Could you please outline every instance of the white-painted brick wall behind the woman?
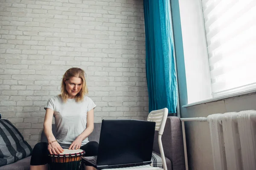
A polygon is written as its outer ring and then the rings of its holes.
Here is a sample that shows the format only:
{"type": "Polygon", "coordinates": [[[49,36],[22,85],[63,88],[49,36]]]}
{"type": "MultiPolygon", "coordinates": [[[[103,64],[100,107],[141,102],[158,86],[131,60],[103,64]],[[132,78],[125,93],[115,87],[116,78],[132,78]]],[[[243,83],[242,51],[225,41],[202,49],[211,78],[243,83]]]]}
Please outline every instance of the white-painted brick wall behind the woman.
{"type": "Polygon", "coordinates": [[[0,113],[34,146],[44,105],[71,67],[87,74],[95,122],[145,119],[143,0],[0,0],[0,113]]]}

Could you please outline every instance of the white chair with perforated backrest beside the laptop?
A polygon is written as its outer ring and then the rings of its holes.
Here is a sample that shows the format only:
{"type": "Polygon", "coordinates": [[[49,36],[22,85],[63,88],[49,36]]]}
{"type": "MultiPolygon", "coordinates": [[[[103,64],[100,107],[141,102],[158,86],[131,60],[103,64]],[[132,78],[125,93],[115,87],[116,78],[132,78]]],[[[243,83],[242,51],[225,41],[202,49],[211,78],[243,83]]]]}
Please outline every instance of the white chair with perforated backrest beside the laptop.
{"type": "Polygon", "coordinates": [[[166,119],[168,115],[168,109],[163,108],[156,111],[151,111],[148,115],[147,121],[156,122],[155,130],[158,131],[158,144],[160,149],[161,158],[163,161],[163,169],[167,170],[166,159],[163,152],[162,135],[166,125],[166,119]]]}

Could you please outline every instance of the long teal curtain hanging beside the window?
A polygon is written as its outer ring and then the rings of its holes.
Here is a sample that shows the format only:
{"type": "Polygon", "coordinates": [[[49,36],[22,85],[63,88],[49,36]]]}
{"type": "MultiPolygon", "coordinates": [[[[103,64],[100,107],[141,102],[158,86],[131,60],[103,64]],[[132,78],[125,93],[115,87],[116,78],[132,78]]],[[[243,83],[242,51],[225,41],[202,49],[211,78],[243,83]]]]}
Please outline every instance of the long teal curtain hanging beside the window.
{"type": "Polygon", "coordinates": [[[177,81],[169,0],[144,0],[149,111],[176,113],[177,81]]]}

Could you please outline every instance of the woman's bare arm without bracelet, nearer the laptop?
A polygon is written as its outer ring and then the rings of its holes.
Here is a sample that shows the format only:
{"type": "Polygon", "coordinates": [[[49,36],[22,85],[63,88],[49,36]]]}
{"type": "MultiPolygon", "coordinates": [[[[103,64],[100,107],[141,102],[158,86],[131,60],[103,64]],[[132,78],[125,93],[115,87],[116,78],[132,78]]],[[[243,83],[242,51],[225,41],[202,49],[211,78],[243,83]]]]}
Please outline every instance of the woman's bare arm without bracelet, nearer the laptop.
{"type": "Polygon", "coordinates": [[[87,124],[86,124],[86,129],[79,135],[77,136],[76,140],[72,142],[70,145],[69,149],[80,149],[82,141],[86,139],[92,132],[93,132],[93,125],[94,122],[94,109],[90,110],[87,112],[87,124]]]}

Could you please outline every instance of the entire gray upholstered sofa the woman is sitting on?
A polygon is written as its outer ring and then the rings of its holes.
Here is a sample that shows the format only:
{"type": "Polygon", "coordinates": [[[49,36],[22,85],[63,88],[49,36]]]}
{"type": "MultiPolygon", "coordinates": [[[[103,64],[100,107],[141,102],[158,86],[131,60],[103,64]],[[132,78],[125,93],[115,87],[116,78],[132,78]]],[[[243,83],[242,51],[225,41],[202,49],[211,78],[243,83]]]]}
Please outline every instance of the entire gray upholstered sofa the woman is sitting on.
{"type": "MultiPolygon", "coordinates": [[[[99,142],[101,123],[94,123],[93,133],[89,136],[89,141],[99,142]]],[[[55,134],[55,125],[52,125],[52,132],[55,134]]],[[[157,140],[158,133],[154,136],[153,151],[160,156],[157,140]]],[[[41,141],[47,142],[44,133],[41,134],[41,141]]],[[[176,116],[167,117],[166,126],[162,136],[163,150],[166,156],[168,170],[185,170],[185,159],[183,150],[183,137],[180,119],[176,116]]],[[[0,167],[0,170],[29,170],[30,158],[26,157],[15,163],[0,167]]]]}

